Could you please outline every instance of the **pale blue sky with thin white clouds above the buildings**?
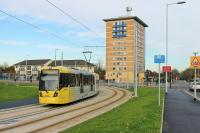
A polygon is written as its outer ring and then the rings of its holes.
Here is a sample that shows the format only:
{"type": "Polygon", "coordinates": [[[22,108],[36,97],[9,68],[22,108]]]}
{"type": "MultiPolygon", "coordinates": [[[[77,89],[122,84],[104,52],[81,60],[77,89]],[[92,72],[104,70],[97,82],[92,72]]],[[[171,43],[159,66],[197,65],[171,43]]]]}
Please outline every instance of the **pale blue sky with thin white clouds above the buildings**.
{"type": "MultiPolygon", "coordinates": [[[[92,51],[92,63],[102,60],[105,48],[105,23],[102,19],[125,16],[126,6],[133,8],[149,27],[146,28],[146,69],[157,70],[154,55],[165,54],[166,4],[176,0],[49,0],[78,21],[63,15],[46,0],[0,0],[0,10],[42,28],[38,30],[0,13],[0,64],[9,65],[27,59],[54,59],[56,48],[64,59],[84,59],[83,51],[92,51]],[[52,34],[59,36],[54,37],[52,34]]],[[[194,51],[200,52],[198,0],[169,7],[169,64],[180,71],[189,67],[194,51]]],[[[58,51],[57,57],[60,58],[58,51]]]]}

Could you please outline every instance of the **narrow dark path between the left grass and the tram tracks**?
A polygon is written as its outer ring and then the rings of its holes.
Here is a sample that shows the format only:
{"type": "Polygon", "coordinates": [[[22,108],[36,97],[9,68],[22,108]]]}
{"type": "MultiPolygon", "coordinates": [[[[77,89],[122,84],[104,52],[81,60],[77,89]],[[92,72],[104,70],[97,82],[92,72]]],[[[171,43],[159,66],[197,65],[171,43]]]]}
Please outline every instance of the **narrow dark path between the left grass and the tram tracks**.
{"type": "Polygon", "coordinates": [[[30,104],[38,104],[38,103],[39,103],[38,98],[18,100],[14,102],[4,102],[4,103],[0,103],[0,109],[13,108],[13,107],[19,107],[19,106],[30,105],[30,104]]]}

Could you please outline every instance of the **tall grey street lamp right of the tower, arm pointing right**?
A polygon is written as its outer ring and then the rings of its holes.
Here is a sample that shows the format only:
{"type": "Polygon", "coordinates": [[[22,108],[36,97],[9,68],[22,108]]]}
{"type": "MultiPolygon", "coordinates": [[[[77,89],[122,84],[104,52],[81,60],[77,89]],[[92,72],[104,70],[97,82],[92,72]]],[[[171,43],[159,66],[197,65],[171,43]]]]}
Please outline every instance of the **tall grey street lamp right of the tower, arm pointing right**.
{"type": "MultiPolygon", "coordinates": [[[[185,4],[185,1],[166,4],[166,66],[168,66],[168,8],[170,5],[185,4]]],[[[167,93],[167,72],[165,73],[165,93],[167,93]]]]}

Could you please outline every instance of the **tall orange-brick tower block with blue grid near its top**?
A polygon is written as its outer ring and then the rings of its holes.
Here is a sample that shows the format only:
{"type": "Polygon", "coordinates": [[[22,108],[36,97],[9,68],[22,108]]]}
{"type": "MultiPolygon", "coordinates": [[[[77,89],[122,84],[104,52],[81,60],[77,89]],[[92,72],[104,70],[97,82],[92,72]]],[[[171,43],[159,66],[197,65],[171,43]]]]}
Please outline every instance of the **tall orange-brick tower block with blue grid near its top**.
{"type": "Polygon", "coordinates": [[[137,53],[138,77],[139,82],[142,82],[145,71],[145,27],[148,25],[136,16],[110,18],[104,21],[106,79],[133,83],[137,53]]]}

